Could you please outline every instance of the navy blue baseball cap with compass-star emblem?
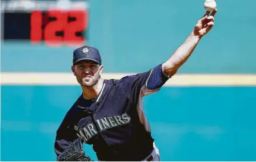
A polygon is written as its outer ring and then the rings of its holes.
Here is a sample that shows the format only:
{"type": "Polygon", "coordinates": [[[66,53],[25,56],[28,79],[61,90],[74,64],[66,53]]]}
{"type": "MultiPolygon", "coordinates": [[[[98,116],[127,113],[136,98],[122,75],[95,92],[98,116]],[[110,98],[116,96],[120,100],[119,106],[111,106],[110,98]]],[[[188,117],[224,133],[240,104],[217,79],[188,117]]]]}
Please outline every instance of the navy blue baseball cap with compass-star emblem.
{"type": "Polygon", "coordinates": [[[99,55],[99,50],[95,47],[90,47],[88,45],[83,45],[73,51],[73,64],[82,60],[90,60],[101,65],[101,55],[99,55]]]}

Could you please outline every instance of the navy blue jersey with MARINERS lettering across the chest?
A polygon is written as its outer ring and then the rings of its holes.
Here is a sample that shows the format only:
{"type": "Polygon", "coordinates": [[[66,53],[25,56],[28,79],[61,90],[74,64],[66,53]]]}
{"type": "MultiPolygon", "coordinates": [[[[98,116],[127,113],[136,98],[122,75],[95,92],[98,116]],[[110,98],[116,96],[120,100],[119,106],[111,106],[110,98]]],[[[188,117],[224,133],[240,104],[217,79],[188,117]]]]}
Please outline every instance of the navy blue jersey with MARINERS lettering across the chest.
{"type": "Polygon", "coordinates": [[[153,150],[143,97],[158,92],[169,78],[162,64],[121,80],[104,80],[95,100],[81,95],[65,115],[55,141],[57,156],[81,137],[93,144],[98,160],[140,161],[153,150]]]}

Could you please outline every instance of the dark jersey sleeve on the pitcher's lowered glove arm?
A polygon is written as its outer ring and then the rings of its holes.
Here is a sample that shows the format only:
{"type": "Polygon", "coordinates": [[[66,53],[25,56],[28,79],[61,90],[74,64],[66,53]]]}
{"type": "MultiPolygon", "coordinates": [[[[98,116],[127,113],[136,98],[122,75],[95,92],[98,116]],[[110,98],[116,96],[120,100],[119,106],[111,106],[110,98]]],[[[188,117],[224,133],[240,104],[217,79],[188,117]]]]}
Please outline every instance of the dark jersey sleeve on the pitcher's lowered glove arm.
{"type": "Polygon", "coordinates": [[[54,151],[57,157],[70,146],[74,140],[78,139],[78,136],[74,130],[74,118],[72,117],[71,110],[67,112],[61,125],[56,132],[56,138],[54,143],[54,151]]]}

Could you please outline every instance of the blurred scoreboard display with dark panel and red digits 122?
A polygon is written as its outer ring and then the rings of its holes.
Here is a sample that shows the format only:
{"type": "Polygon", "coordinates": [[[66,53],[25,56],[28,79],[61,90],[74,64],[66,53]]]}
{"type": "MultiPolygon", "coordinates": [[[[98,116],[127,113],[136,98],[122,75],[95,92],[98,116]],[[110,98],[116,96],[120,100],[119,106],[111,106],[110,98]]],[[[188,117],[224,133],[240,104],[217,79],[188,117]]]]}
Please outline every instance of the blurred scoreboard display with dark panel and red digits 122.
{"type": "Polygon", "coordinates": [[[3,41],[44,41],[50,46],[84,44],[87,40],[87,10],[15,10],[2,11],[3,41]]]}

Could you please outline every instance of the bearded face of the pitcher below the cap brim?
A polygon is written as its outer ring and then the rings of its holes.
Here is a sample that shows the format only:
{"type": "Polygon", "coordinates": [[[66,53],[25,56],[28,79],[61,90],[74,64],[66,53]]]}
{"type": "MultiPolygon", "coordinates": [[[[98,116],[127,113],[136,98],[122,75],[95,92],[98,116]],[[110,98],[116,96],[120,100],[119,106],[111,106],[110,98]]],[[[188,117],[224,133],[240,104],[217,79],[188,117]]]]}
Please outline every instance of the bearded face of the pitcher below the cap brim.
{"type": "Polygon", "coordinates": [[[103,65],[99,65],[94,61],[79,61],[72,66],[74,76],[77,81],[84,87],[91,87],[97,84],[103,70],[103,65]]]}

